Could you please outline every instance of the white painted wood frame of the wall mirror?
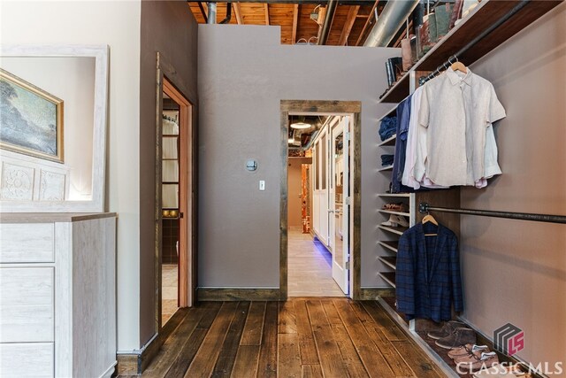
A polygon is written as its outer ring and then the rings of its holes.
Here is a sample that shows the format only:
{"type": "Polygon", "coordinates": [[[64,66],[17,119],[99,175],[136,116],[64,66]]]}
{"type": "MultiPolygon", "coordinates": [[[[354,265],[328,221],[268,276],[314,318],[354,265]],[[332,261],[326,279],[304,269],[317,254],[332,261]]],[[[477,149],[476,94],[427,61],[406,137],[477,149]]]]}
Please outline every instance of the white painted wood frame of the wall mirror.
{"type": "Polygon", "coordinates": [[[95,65],[92,199],[89,201],[0,201],[2,212],[103,212],[106,167],[109,55],[107,45],[2,45],[2,57],[91,57],[95,65]]]}

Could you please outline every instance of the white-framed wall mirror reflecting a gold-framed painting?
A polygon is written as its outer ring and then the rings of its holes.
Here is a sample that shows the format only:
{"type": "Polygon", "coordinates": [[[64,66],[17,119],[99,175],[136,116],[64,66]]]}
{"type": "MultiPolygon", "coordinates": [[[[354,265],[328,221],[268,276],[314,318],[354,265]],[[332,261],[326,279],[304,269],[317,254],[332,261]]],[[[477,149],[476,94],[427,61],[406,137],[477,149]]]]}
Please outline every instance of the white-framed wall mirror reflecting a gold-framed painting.
{"type": "Polygon", "coordinates": [[[108,46],[0,50],[0,211],[103,212],[108,46]]]}

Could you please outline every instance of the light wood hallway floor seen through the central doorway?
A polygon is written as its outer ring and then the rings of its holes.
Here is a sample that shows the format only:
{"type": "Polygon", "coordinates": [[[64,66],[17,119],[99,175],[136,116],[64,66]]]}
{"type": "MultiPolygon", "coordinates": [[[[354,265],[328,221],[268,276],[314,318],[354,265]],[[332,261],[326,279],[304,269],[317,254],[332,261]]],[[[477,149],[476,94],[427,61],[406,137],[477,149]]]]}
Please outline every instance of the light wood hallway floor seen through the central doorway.
{"type": "Polygon", "coordinates": [[[300,228],[288,230],[287,290],[289,297],[344,297],[333,280],[332,255],[300,228]]]}

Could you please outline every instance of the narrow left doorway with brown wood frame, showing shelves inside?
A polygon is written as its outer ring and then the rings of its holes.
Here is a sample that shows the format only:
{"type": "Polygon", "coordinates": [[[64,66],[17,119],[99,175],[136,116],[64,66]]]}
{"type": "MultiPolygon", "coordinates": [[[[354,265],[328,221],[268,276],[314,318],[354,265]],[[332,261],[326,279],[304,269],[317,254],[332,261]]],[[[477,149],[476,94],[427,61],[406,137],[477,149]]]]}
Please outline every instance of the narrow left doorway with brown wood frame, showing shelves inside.
{"type": "Polygon", "coordinates": [[[167,77],[158,86],[157,327],[192,305],[192,105],[167,77]]]}

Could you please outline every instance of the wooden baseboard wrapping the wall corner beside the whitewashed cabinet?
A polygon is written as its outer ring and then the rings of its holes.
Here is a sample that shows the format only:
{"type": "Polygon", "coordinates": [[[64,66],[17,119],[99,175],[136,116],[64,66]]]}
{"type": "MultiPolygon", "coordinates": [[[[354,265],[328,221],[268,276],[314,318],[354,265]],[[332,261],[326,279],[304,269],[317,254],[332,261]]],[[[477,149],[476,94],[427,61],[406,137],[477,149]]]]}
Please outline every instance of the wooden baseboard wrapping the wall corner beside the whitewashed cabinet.
{"type": "Polygon", "coordinates": [[[159,334],[154,335],[148,343],[143,345],[139,351],[132,353],[117,354],[118,365],[116,367],[117,375],[142,375],[142,372],[149,366],[151,361],[157,356],[164,341],[172,332],[179,327],[180,321],[187,314],[187,308],[180,308],[168,320],[159,334]]]}

